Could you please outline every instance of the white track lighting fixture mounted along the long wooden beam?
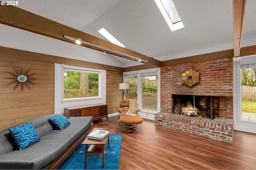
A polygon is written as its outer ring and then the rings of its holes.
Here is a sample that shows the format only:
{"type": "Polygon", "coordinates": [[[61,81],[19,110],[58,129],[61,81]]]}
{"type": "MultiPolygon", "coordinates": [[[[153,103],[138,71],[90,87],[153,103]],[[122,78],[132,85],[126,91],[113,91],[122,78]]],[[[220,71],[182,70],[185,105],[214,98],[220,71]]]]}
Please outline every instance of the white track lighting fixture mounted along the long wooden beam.
{"type": "MultiPolygon", "coordinates": [[[[77,44],[79,44],[79,42],[80,42],[80,44],[83,43],[83,44],[86,44],[86,45],[90,45],[90,46],[93,46],[93,47],[97,47],[97,48],[99,48],[99,49],[103,49],[103,50],[108,51],[108,52],[111,52],[111,53],[120,54],[120,55],[129,57],[129,58],[138,60],[138,62],[141,62],[141,61],[143,61],[143,62],[145,62],[145,63],[148,62],[148,61],[143,60],[143,59],[140,59],[140,58],[138,58],[138,57],[133,57],[133,56],[131,56],[131,55],[127,55],[127,54],[124,54],[124,53],[120,53],[120,52],[118,52],[118,51],[114,51],[114,50],[112,50],[112,49],[108,49],[108,48],[105,48],[105,47],[101,47],[101,46],[99,46],[99,45],[95,45],[95,44],[92,44],[92,43],[88,43],[88,42],[86,42],[86,41],[82,41],[80,38],[76,39],[76,38],[73,38],[73,37],[69,37],[69,36],[67,36],[67,35],[64,35],[64,38],[67,38],[67,39],[71,39],[71,40],[73,40],[73,41],[76,41],[77,44]]],[[[80,45],[80,44],[79,44],[79,45],[80,45]]],[[[148,57],[147,57],[147,58],[148,58],[148,57]]]]}

